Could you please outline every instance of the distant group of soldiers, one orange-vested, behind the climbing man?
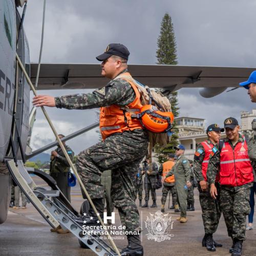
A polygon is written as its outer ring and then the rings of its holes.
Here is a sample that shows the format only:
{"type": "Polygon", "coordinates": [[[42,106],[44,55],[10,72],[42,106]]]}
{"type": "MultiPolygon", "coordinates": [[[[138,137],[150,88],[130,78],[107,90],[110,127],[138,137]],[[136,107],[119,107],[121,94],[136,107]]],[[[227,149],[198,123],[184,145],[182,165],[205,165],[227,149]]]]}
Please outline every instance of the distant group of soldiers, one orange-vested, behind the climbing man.
{"type": "MultiPolygon", "coordinates": [[[[150,198],[150,191],[153,200],[151,207],[157,207],[156,204],[156,189],[163,187],[161,198],[161,211],[164,212],[164,206],[168,193],[172,194],[172,206],[170,209],[175,209],[175,212],[181,212],[181,222],[185,223],[186,211],[195,210],[194,187],[197,186],[193,172],[193,161],[188,160],[184,156],[185,147],[178,145],[175,147],[176,154],[169,153],[168,160],[160,165],[159,169],[155,162],[151,159],[146,159],[138,170],[136,178],[136,197],[138,193],[139,206],[148,207],[148,200],[150,198]],[[176,175],[170,174],[170,170],[176,175]],[[180,177],[178,177],[180,173],[180,177]],[[144,175],[144,183],[143,176],[144,175]],[[159,175],[162,176],[159,185],[159,175]],[[184,180],[189,181],[188,184],[184,180]],[[183,184],[184,183],[184,184],[183,184]],[[145,191],[145,204],[142,205],[143,185],[145,191]]],[[[169,205],[168,205],[169,207],[169,205]]]]}

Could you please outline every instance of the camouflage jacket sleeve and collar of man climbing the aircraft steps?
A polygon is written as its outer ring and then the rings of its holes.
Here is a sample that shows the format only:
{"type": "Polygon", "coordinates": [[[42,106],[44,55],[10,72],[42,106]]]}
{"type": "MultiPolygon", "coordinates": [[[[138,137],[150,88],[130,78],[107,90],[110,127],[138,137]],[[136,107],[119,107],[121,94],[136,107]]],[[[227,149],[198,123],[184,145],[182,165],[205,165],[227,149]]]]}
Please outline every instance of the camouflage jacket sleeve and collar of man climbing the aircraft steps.
{"type": "MultiPolygon", "coordinates": [[[[127,72],[123,70],[121,73],[127,72]]],[[[118,74],[119,75],[119,74],[118,74]]],[[[105,87],[87,94],[74,94],[55,98],[56,108],[94,109],[117,104],[125,106],[134,101],[136,95],[129,82],[124,79],[111,80],[105,87]]]]}

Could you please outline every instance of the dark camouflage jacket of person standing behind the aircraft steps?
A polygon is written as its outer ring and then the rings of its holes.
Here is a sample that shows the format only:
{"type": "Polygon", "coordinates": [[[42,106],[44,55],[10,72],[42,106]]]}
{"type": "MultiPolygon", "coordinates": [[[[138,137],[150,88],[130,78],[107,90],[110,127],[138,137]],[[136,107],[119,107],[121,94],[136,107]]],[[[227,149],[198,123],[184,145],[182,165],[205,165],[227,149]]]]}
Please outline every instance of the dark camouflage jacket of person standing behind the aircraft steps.
{"type": "MultiPolygon", "coordinates": [[[[69,154],[69,157],[71,158],[71,161],[73,161],[74,152],[71,150],[71,148],[67,145],[65,145],[66,151],[69,154]]],[[[66,159],[64,153],[61,150],[61,147],[57,147],[55,150],[58,155],[51,159],[50,162],[50,174],[52,173],[67,173],[69,172],[69,162],[66,159]]],[[[51,157],[52,158],[52,157],[51,157]]]]}

